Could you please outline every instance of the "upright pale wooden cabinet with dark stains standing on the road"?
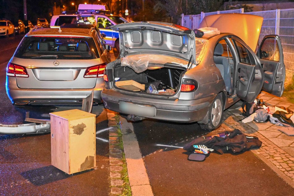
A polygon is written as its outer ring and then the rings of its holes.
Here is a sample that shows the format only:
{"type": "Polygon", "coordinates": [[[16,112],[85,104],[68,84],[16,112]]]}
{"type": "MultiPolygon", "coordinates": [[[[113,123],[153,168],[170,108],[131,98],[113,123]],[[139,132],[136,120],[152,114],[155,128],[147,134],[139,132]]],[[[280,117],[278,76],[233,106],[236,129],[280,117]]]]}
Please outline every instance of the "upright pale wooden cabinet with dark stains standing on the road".
{"type": "Polygon", "coordinates": [[[79,109],[50,113],[51,164],[72,174],[96,167],[96,115],[79,109]]]}

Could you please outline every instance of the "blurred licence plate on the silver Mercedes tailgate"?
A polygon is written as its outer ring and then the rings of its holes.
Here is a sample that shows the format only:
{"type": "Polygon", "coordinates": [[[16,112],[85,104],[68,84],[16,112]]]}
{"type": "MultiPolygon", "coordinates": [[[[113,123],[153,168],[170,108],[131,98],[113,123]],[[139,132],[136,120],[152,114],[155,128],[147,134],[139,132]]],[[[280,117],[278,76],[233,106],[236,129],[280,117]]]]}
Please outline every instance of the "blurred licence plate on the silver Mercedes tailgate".
{"type": "Polygon", "coordinates": [[[40,80],[47,81],[73,81],[73,71],[53,71],[53,70],[41,70],[40,80]]]}

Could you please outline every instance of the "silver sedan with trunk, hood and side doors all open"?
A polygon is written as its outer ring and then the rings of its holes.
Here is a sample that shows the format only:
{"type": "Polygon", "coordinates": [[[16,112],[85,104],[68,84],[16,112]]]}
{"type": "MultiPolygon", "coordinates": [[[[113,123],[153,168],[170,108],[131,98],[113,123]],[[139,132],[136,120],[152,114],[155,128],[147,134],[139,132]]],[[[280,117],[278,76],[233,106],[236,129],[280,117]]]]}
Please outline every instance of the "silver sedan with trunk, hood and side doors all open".
{"type": "Polygon", "coordinates": [[[238,100],[253,102],[261,89],[283,93],[285,66],[277,35],[266,36],[256,55],[238,36],[215,28],[214,35],[204,32],[203,37],[198,30],[161,22],[111,28],[120,33],[122,51],[106,66],[101,97],[105,108],[127,114],[128,120],[197,121],[212,130],[238,100]]]}

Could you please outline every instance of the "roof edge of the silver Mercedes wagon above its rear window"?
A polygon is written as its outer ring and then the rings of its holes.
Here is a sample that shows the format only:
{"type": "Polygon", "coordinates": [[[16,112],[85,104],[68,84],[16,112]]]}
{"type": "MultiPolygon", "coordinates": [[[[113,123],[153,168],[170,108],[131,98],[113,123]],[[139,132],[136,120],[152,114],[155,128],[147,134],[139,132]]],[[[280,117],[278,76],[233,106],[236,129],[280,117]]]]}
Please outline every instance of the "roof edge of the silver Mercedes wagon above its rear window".
{"type": "Polygon", "coordinates": [[[87,28],[35,28],[27,36],[90,36],[92,29],[87,28]]]}

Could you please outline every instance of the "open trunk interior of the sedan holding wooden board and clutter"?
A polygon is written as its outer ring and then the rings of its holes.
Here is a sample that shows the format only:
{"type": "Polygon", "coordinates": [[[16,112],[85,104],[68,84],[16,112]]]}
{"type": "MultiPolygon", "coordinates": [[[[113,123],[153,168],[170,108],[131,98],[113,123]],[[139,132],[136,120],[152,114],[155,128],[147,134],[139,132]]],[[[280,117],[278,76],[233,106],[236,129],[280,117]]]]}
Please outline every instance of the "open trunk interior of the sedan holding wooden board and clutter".
{"type": "Polygon", "coordinates": [[[114,84],[125,91],[173,96],[181,87],[185,71],[185,67],[175,64],[153,64],[147,70],[136,73],[132,68],[118,64],[114,68],[114,84]]]}

